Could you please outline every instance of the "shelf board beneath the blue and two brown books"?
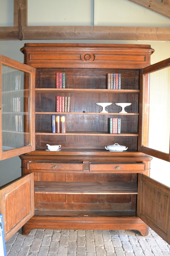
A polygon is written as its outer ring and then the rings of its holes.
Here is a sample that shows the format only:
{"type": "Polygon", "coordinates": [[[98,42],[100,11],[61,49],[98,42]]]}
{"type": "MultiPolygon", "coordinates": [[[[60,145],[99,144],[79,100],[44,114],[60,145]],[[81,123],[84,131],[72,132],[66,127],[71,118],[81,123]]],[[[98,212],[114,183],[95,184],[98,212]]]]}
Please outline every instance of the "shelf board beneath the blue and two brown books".
{"type": "Polygon", "coordinates": [[[114,133],[110,134],[107,132],[66,132],[66,133],[52,133],[52,132],[41,132],[36,131],[36,135],[83,135],[83,136],[138,136],[138,133],[114,133]]]}

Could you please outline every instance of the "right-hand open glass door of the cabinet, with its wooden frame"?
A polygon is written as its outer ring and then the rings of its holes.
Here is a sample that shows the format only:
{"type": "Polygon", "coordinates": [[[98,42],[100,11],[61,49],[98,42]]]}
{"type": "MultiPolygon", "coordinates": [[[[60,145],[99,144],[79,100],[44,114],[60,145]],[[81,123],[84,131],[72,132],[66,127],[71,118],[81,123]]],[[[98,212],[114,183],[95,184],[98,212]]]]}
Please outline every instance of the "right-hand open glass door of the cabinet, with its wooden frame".
{"type": "Polygon", "coordinates": [[[170,58],[140,72],[138,151],[170,162],[170,58]]]}

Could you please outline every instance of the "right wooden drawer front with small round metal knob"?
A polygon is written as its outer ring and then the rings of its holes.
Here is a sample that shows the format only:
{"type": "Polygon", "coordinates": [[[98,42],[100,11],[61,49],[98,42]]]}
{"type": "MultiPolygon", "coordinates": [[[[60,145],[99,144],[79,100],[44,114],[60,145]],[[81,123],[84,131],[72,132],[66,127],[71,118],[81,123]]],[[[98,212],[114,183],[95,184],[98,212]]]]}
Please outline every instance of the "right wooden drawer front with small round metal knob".
{"type": "Polygon", "coordinates": [[[135,164],[90,164],[90,172],[144,172],[144,163],[135,164]]]}

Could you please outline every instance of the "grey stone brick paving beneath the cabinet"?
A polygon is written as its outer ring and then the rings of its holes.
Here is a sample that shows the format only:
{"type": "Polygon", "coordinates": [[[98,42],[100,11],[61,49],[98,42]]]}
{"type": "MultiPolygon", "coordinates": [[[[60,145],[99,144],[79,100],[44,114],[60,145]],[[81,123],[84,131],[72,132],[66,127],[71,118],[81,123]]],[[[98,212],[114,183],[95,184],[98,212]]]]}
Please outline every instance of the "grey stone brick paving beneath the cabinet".
{"type": "Polygon", "coordinates": [[[33,229],[6,242],[8,256],[168,256],[170,245],[153,230],[33,229]]]}

